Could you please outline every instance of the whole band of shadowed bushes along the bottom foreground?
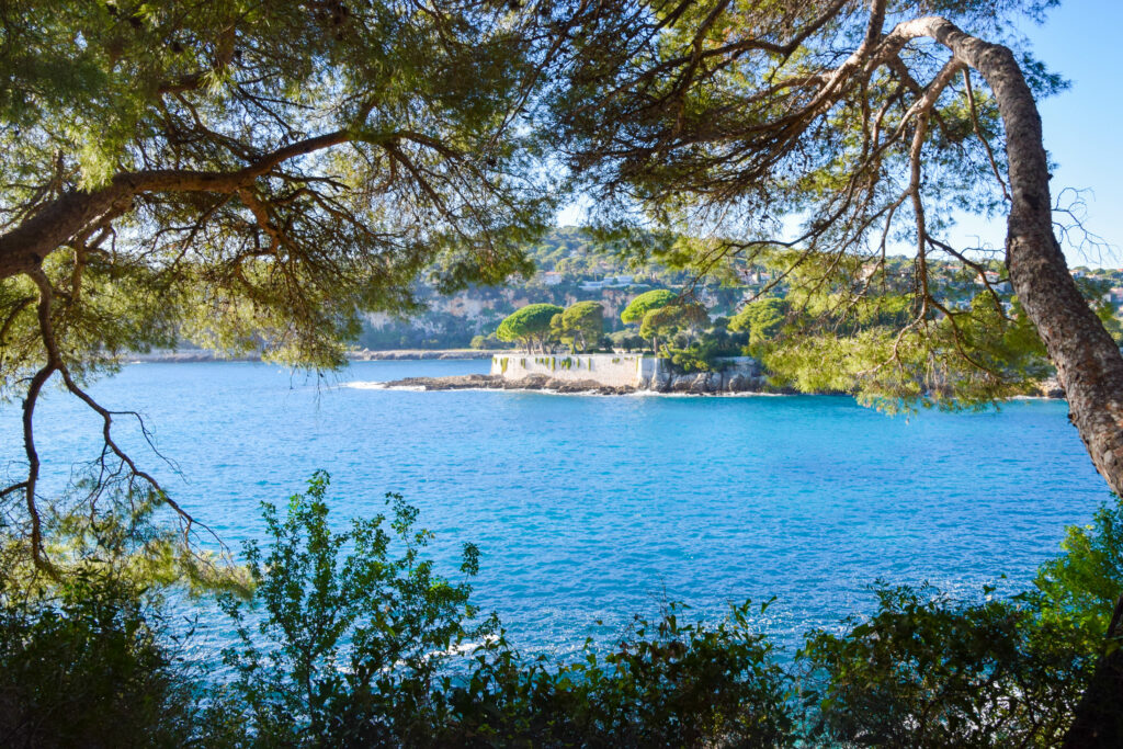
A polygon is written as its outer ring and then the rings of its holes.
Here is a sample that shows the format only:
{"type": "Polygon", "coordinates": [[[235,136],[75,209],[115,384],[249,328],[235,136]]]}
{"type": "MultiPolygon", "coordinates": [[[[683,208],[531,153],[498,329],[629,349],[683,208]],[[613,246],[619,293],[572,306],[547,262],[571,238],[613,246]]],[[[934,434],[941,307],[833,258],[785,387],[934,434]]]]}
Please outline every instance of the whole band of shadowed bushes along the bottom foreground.
{"type": "Polygon", "coordinates": [[[447,579],[400,496],[335,532],[327,488],[317,474],[284,513],[265,506],[268,542],[246,548],[254,594],[219,595],[237,641],[209,676],[176,658],[143,586],[89,570],[35,594],[4,583],[0,745],[1049,747],[1123,570],[1123,512],[1104,509],[1017,596],[878,584],[873,616],[786,658],[754,631],[763,609],[699,624],[668,604],[556,663],[520,655],[471,605],[475,547],[447,579]]]}

